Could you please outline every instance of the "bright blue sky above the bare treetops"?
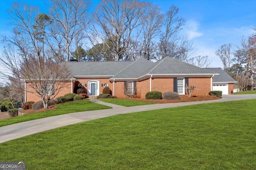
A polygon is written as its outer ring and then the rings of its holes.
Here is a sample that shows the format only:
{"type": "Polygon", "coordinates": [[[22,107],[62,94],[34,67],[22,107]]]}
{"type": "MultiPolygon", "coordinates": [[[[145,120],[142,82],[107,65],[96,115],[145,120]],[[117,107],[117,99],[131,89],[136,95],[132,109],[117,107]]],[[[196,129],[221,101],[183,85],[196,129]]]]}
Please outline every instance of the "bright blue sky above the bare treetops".
{"type": "MultiPolygon", "coordinates": [[[[224,43],[232,43],[233,48],[239,45],[242,36],[248,37],[256,27],[256,0],[148,0],[157,4],[162,12],[174,4],[180,8],[179,15],[186,19],[181,36],[188,36],[194,42],[196,55],[208,55],[212,67],[222,67],[215,51],[224,43]]],[[[0,0],[0,35],[10,32],[10,17],[6,10],[17,0],[0,0]]],[[[44,0],[18,0],[28,5],[38,6],[47,13],[44,0]]],[[[91,0],[93,10],[100,2],[91,0]]],[[[0,48],[3,44],[1,43],[0,48]]],[[[1,54],[0,54],[1,55],[1,54]]]]}

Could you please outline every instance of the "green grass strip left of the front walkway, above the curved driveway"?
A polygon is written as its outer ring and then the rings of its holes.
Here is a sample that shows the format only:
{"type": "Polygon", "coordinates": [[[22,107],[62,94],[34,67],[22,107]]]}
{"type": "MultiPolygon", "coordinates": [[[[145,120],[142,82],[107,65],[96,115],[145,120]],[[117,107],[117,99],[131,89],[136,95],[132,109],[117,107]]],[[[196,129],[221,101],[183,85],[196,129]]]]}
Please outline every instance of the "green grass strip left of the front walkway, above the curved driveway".
{"type": "Polygon", "coordinates": [[[42,111],[38,113],[28,114],[28,115],[21,115],[18,117],[12,117],[9,119],[0,120],[0,127],[11,125],[14,123],[20,123],[24,121],[30,121],[34,119],[40,119],[43,117],[50,117],[56,115],[63,115],[66,113],[74,113],[79,111],[90,111],[90,110],[101,110],[101,109],[109,109],[112,107],[103,106],[100,104],[96,104],[91,102],[90,100],[79,100],[76,102],[68,102],[65,104],[57,105],[57,109],[49,110],[49,111],[42,111]]]}

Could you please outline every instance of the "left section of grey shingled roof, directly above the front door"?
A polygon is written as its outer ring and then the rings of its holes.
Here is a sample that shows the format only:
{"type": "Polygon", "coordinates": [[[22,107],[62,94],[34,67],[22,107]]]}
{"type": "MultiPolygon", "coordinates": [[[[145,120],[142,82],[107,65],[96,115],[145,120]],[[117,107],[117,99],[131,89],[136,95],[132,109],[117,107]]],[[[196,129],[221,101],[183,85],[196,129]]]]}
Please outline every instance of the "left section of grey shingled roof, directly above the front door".
{"type": "Polygon", "coordinates": [[[65,62],[73,77],[114,76],[134,61],[65,62]]]}

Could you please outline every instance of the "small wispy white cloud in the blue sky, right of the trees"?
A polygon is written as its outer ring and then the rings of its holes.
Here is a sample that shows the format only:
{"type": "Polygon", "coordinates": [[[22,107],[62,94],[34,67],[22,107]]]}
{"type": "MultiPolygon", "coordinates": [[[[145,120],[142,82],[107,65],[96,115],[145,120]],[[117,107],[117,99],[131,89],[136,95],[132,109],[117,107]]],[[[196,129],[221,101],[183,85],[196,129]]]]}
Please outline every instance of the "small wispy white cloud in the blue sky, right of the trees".
{"type": "Polygon", "coordinates": [[[198,31],[198,27],[199,27],[199,24],[194,20],[190,20],[186,22],[184,31],[188,35],[188,39],[194,39],[196,37],[201,37],[203,35],[203,33],[198,31]]]}

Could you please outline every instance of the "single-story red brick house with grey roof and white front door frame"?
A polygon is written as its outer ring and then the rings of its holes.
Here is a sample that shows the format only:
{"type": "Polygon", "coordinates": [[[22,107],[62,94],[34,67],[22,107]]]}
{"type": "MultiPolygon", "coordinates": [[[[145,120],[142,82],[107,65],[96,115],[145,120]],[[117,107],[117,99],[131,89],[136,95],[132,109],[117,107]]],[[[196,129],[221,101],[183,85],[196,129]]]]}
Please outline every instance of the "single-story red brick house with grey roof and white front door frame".
{"type": "MultiPolygon", "coordinates": [[[[92,62],[66,62],[72,72],[68,87],[63,88],[56,96],[66,93],[76,93],[80,87],[88,96],[98,96],[105,86],[112,90],[112,96],[124,98],[126,91],[134,92],[137,98],[145,98],[147,92],[167,91],[185,94],[185,84],[193,85],[195,96],[207,95],[215,89],[225,72],[221,68],[200,68],[171,57],[165,57],[156,63],[146,59],[136,61],[92,61],[92,62]],[[215,79],[216,76],[216,79],[215,79]],[[215,82],[216,80],[216,82],[215,82]]],[[[225,74],[228,77],[228,74],[225,74]]],[[[225,81],[231,94],[234,79],[225,81]]],[[[220,86],[219,86],[220,87],[220,86]]],[[[26,101],[39,101],[40,98],[32,93],[26,93],[26,101]]]]}

